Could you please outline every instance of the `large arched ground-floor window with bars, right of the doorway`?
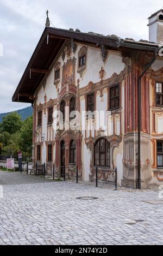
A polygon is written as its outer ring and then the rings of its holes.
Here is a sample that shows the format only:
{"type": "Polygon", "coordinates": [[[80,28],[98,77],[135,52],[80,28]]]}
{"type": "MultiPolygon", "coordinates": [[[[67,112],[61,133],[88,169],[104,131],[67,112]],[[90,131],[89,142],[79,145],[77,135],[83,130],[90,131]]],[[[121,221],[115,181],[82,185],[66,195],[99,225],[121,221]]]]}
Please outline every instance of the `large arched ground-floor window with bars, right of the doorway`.
{"type": "Polygon", "coordinates": [[[95,166],[110,167],[110,144],[108,140],[102,138],[95,144],[95,166]]]}

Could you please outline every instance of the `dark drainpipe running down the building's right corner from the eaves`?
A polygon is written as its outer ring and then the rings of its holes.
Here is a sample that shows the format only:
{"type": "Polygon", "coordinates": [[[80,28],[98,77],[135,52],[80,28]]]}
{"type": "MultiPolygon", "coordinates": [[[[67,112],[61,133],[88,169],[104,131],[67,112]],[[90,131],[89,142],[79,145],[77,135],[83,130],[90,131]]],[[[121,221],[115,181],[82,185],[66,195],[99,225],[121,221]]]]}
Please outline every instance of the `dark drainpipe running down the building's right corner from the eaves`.
{"type": "Polygon", "coordinates": [[[147,64],[138,79],[138,159],[137,159],[137,188],[141,189],[141,124],[142,124],[142,111],[141,111],[141,79],[147,70],[154,63],[158,50],[154,51],[153,59],[147,64]]]}

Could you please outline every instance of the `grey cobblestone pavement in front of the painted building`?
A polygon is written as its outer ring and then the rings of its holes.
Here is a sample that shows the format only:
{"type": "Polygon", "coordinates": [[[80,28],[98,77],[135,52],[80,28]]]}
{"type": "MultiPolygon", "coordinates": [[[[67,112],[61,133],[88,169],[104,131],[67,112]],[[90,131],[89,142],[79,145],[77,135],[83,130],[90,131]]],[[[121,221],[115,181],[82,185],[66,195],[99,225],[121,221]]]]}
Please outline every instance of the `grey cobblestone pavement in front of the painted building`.
{"type": "Polygon", "coordinates": [[[158,192],[20,176],[0,171],[0,245],[163,245],[158,192]]]}

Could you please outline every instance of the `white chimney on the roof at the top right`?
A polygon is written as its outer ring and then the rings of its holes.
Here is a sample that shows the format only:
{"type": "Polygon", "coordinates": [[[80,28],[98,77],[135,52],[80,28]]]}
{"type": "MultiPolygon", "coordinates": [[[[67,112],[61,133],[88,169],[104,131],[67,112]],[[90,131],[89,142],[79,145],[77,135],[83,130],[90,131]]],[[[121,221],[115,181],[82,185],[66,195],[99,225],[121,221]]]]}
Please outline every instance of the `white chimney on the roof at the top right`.
{"type": "Polygon", "coordinates": [[[156,11],[148,19],[149,41],[156,44],[163,44],[163,9],[156,11]]]}

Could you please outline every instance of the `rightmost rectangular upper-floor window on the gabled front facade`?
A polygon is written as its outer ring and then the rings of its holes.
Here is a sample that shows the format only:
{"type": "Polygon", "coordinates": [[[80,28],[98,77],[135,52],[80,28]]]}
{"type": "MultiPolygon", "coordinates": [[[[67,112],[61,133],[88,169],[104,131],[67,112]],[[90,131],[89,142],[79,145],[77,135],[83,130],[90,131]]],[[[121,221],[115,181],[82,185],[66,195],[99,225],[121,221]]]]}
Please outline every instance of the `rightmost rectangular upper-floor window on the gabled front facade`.
{"type": "Polygon", "coordinates": [[[110,110],[120,108],[120,86],[110,88],[110,110]]]}

